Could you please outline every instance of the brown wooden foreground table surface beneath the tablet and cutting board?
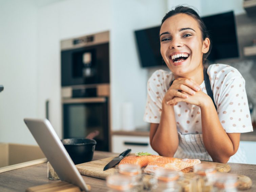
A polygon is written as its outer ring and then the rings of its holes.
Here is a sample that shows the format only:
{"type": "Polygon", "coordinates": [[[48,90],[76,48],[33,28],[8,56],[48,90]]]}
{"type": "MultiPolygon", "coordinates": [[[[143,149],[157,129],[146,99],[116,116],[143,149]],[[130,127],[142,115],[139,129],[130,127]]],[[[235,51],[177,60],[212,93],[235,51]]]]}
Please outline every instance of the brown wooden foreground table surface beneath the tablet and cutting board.
{"type": "MultiPolygon", "coordinates": [[[[117,156],[117,153],[95,151],[93,160],[117,156]]],[[[246,191],[256,191],[256,165],[229,163],[230,173],[242,174],[252,179],[252,188],[246,191]]],[[[91,192],[106,192],[106,181],[82,175],[86,184],[91,185],[91,192]]],[[[0,173],[0,191],[25,191],[29,187],[58,182],[47,178],[47,163],[24,167],[0,173]]]]}

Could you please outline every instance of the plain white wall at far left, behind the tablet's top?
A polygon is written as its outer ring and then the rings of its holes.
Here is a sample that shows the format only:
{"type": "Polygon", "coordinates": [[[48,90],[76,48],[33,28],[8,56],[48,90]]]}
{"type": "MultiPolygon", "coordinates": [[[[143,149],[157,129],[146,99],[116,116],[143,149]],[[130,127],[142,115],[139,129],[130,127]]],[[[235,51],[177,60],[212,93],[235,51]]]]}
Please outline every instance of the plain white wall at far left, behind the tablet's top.
{"type": "Polygon", "coordinates": [[[37,117],[37,8],[0,1],[0,142],[34,143],[23,122],[37,117]]]}

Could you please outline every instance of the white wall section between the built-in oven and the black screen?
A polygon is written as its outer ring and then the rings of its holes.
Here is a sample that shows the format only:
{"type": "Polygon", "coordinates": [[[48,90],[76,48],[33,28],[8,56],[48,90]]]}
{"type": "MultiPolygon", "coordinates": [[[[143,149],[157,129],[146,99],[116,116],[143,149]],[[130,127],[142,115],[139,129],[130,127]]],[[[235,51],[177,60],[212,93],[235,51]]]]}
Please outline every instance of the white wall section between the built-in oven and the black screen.
{"type": "Polygon", "coordinates": [[[147,69],[140,67],[134,30],[159,25],[166,2],[157,0],[112,1],[111,28],[111,115],[112,129],[122,128],[122,104],[134,105],[135,126],[146,125],[147,69]]]}

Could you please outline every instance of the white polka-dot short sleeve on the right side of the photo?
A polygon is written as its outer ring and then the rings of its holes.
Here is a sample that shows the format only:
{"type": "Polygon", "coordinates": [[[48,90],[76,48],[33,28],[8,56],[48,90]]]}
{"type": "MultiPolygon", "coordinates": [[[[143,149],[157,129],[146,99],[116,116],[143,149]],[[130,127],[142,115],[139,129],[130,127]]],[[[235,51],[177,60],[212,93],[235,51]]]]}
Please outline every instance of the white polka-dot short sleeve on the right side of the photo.
{"type": "Polygon", "coordinates": [[[253,131],[253,127],[245,81],[237,70],[233,73],[235,73],[233,76],[226,78],[217,87],[219,89],[217,102],[219,120],[227,133],[250,132],[253,131]]]}

